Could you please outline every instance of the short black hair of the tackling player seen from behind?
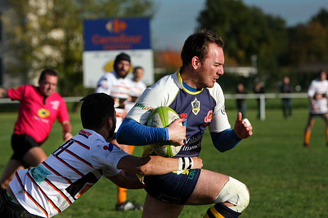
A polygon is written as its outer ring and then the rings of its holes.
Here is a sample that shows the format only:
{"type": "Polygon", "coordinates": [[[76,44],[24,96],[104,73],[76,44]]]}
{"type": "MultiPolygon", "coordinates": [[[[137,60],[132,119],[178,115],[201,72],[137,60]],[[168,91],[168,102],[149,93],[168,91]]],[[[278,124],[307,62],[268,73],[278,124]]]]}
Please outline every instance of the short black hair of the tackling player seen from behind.
{"type": "Polygon", "coordinates": [[[109,117],[114,117],[114,99],[105,93],[92,93],[80,101],[81,121],[83,128],[99,130],[105,125],[109,117]]]}

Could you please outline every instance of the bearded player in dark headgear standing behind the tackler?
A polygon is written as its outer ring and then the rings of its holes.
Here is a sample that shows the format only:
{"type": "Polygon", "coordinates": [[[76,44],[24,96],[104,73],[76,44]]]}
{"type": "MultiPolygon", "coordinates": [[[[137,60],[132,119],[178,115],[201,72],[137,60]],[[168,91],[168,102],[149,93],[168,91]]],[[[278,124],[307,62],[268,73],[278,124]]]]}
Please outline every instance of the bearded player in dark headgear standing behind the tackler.
{"type": "MultiPolygon", "coordinates": [[[[117,146],[123,151],[132,154],[133,147],[125,144],[119,144],[116,141],[116,132],[121,125],[122,120],[127,114],[125,104],[129,98],[131,79],[127,78],[127,75],[131,68],[130,56],[125,53],[120,53],[116,56],[114,61],[114,70],[104,74],[97,83],[95,92],[103,92],[111,95],[115,100],[116,111],[116,129],[109,139],[109,142],[117,144],[117,146]]],[[[135,204],[127,201],[127,189],[117,186],[117,204],[116,210],[136,210],[142,209],[142,205],[135,204]]]]}

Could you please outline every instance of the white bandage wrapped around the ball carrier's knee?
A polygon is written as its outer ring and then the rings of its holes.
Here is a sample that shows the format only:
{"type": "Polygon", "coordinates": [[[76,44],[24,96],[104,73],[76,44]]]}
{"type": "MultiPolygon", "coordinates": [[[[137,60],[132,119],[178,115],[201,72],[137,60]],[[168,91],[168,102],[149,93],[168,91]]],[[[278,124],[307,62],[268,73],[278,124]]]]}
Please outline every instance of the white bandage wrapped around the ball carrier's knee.
{"type": "Polygon", "coordinates": [[[250,193],[246,185],[229,177],[229,181],[223,186],[213,203],[223,202],[236,205],[229,208],[237,212],[242,212],[250,203],[250,193]]]}

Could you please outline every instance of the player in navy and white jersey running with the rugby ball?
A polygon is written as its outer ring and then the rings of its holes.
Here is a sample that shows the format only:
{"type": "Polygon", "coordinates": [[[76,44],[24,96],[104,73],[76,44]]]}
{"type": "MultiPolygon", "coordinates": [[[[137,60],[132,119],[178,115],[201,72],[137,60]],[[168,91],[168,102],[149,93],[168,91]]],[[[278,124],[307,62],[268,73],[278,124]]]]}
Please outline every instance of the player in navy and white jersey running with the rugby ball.
{"type": "MultiPolygon", "coordinates": [[[[223,75],[223,40],[212,31],[189,36],[181,52],[182,67],[147,88],[123,120],[117,141],[144,146],[159,141],[179,143],[175,158],[182,165],[198,156],[201,138],[209,127],[212,142],[220,152],[234,148],[252,133],[252,126],[237,114],[230,129],[224,96],[216,80],[223,75]],[[169,106],[179,114],[169,127],[145,126],[152,108],[169,106]],[[180,126],[179,123],[183,124],[180,126]]],[[[149,146],[144,156],[156,155],[149,146]]],[[[237,164],[232,161],[232,164],[237,164]]],[[[145,176],[147,197],[143,217],[178,217],[184,205],[215,204],[204,217],[238,217],[249,204],[248,188],[238,180],[206,169],[179,170],[160,176],[145,176]]]]}

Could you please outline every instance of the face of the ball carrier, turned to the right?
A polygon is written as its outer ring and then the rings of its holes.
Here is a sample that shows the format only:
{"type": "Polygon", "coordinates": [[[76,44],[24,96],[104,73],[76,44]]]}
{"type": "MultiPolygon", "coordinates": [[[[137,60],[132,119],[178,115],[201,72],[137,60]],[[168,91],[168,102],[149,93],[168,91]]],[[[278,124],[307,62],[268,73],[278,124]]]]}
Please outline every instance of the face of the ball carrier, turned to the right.
{"type": "Polygon", "coordinates": [[[217,44],[209,44],[207,58],[200,63],[200,73],[197,88],[212,88],[223,75],[224,55],[222,47],[217,44]]]}

